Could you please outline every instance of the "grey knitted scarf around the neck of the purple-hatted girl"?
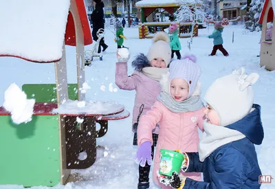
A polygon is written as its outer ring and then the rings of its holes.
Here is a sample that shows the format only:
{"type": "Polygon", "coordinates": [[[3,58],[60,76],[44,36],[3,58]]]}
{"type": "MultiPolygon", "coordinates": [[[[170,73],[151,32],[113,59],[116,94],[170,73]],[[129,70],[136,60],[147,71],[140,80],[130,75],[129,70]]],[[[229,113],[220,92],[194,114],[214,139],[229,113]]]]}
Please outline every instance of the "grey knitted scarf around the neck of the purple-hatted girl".
{"type": "Polygon", "coordinates": [[[162,104],[174,113],[197,111],[203,107],[200,96],[191,96],[184,101],[177,102],[170,94],[163,91],[159,94],[157,100],[162,102],[162,104]]]}

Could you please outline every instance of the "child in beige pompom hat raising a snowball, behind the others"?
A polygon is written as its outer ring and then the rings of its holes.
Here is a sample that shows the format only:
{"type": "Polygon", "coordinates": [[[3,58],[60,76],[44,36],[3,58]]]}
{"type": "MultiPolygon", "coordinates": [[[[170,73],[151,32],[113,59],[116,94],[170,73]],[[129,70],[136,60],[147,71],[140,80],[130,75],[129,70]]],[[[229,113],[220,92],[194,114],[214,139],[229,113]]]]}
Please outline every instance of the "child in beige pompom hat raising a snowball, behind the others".
{"type": "MultiPolygon", "coordinates": [[[[167,65],[171,59],[170,39],[165,32],[158,32],[153,38],[147,56],[139,54],[133,60],[132,66],[135,68],[133,74],[127,74],[127,61],[129,60],[129,52],[127,49],[118,50],[118,63],[115,70],[115,84],[120,89],[135,90],[135,105],[133,107],[133,127],[134,132],[133,145],[137,145],[137,123],[139,115],[143,115],[148,111],[160,93],[159,80],[162,74],[168,71],[167,65]],[[128,55],[128,56],[127,56],[128,55]]],[[[157,129],[151,129],[150,135],[153,138],[152,156],[154,146],[157,144],[157,129]],[[153,135],[152,135],[153,133],[153,135]]],[[[151,148],[151,146],[150,146],[151,148]]],[[[139,167],[139,183],[137,188],[149,188],[150,165],[144,162],[139,167]]]]}

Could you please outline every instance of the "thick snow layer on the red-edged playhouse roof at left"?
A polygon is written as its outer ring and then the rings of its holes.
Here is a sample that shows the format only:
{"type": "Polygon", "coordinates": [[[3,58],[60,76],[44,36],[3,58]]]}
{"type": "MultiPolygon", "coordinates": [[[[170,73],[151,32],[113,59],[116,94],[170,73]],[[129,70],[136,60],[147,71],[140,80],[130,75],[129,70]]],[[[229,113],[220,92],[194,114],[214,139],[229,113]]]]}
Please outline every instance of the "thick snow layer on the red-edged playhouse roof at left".
{"type": "Polygon", "coordinates": [[[59,60],[69,5],[70,0],[0,1],[0,56],[59,60]]]}

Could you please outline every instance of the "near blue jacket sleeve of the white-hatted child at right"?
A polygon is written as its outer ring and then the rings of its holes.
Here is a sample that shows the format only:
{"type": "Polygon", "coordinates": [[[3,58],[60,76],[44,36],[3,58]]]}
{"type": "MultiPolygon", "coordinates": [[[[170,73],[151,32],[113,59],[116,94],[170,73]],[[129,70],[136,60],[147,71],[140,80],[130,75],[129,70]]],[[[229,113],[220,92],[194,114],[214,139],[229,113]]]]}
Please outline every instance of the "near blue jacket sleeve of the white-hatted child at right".
{"type": "Polygon", "coordinates": [[[250,170],[247,159],[235,148],[223,148],[214,157],[214,171],[210,173],[210,182],[186,179],[184,189],[236,189],[241,188],[247,176],[245,171],[250,170]]]}

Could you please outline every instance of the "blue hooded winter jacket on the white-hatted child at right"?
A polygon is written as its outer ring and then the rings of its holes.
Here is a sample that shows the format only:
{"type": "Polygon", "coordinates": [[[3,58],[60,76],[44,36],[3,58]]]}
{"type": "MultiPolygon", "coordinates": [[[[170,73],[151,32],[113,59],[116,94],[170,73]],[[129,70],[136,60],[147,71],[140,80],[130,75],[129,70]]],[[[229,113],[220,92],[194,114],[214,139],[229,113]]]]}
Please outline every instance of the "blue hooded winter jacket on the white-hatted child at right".
{"type": "Polygon", "coordinates": [[[186,179],[186,188],[260,188],[258,159],[254,144],[263,141],[261,107],[254,104],[254,111],[242,120],[226,126],[228,129],[240,131],[246,137],[220,146],[213,151],[204,162],[199,161],[198,153],[187,153],[189,166],[186,172],[203,172],[203,181],[186,179]]]}

